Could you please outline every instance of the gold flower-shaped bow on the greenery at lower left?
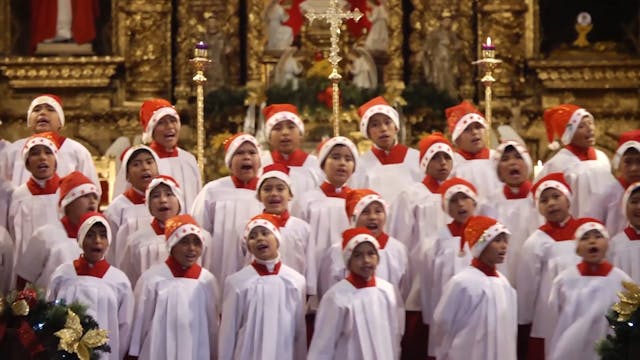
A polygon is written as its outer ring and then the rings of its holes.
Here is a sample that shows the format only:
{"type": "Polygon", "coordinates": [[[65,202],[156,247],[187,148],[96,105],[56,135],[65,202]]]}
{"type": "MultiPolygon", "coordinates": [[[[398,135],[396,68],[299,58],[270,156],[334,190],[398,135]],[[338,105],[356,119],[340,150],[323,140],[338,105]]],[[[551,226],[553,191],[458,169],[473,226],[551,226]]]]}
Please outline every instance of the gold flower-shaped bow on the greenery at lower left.
{"type": "Polygon", "coordinates": [[[83,328],[76,313],[67,310],[67,321],[64,329],[56,331],[54,335],[60,338],[58,349],[68,353],[75,353],[80,360],[89,360],[91,349],[104,345],[109,341],[107,330],[92,329],[82,335],[83,328]]]}

